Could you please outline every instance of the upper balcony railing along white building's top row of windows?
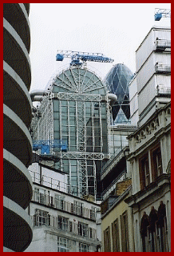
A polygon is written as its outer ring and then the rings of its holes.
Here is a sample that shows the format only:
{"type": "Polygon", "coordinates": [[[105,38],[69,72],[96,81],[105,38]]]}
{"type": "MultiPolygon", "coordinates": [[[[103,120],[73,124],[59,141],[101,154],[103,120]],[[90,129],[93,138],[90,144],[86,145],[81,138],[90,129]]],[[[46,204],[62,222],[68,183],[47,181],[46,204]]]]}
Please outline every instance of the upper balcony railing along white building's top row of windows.
{"type": "Polygon", "coordinates": [[[52,206],[55,209],[61,209],[67,213],[77,214],[78,216],[86,217],[90,220],[96,221],[96,213],[94,210],[83,206],[74,205],[69,201],[60,200],[56,197],[38,193],[36,191],[33,192],[32,201],[36,201],[43,205],[52,206]]]}

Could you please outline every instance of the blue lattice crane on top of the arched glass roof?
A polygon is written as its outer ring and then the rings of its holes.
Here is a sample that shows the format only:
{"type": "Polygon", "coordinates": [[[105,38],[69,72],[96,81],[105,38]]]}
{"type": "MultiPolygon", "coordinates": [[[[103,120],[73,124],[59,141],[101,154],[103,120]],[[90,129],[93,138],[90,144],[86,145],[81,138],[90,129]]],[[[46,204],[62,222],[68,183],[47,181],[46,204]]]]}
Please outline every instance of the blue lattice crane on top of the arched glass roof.
{"type": "Polygon", "coordinates": [[[57,51],[56,60],[62,61],[64,58],[71,58],[70,66],[82,66],[87,61],[100,63],[113,63],[113,59],[101,53],[89,53],[81,51],[57,51]]]}

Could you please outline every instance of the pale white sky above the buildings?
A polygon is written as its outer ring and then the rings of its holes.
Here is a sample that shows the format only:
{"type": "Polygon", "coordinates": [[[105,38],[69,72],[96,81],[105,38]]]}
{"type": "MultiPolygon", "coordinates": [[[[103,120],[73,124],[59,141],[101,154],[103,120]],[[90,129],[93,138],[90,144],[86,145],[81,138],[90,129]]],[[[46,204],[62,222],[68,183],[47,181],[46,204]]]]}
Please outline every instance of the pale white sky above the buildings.
{"type": "Polygon", "coordinates": [[[102,53],[113,63],[92,63],[104,78],[125,63],[136,71],[135,51],[152,26],[170,26],[170,18],[154,21],[155,8],[170,3],[30,3],[30,90],[45,89],[50,77],[69,58],[56,62],[57,50],[102,53]]]}

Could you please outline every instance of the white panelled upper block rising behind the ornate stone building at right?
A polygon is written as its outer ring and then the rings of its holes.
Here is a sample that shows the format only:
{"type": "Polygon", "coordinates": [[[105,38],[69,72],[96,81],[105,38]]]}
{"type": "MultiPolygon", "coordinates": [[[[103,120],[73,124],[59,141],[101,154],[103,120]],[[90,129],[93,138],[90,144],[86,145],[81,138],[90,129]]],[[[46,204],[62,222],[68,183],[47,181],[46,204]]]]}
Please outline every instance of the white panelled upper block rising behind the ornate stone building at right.
{"type": "Polygon", "coordinates": [[[129,84],[132,124],[144,124],[170,101],[171,29],[152,26],[136,50],[136,75],[129,84]]]}

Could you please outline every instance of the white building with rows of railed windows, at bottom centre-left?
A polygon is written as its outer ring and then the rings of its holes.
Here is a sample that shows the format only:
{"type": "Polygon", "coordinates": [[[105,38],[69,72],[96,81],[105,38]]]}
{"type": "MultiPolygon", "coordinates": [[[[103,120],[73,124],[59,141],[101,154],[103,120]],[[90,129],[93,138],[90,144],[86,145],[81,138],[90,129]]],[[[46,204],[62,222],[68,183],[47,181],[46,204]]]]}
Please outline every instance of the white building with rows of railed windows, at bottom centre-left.
{"type": "Polygon", "coordinates": [[[35,182],[27,210],[34,237],[26,252],[97,251],[101,247],[100,206],[65,193],[60,173],[38,163],[30,166],[30,173],[35,182]]]}

